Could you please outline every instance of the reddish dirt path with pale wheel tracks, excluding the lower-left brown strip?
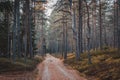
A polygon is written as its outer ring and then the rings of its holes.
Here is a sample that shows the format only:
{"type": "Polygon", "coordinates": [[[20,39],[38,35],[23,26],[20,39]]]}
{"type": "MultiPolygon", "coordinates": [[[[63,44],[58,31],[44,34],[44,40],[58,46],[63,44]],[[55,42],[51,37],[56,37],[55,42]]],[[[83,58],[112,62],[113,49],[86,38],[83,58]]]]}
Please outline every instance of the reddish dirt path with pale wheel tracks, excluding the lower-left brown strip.
{"type": "Polygon", "coordinates": [[[75,70],[67,69],[61,60],[47,54],[43,63],[38,65],[36,80],[86,80],[75,70]]]}

